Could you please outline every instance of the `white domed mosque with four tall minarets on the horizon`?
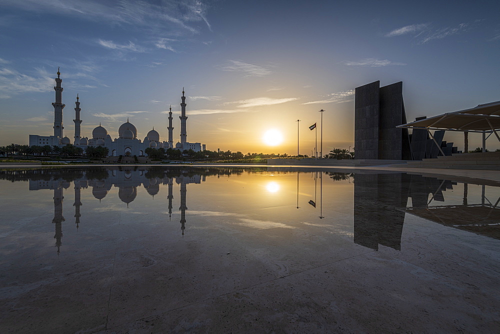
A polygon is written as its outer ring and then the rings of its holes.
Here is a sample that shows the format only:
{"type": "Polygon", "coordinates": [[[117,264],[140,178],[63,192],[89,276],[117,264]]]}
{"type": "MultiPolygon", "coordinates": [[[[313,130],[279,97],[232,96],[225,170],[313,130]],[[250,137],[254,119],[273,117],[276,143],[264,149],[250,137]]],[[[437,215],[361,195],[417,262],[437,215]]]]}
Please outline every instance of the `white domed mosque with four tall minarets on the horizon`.
{"type": "MultiPolygon", "coordinates": [[[[60,72],[57,69],[57,77],[55,78],[55,102],[52,103],[54,107],[54,135],[43,136],[30,134],[29,135],[29,146],[33,145],[56,145],[64,146],[71,143],[71,139],[67,136],[62,136],[62,109],[65,104],[62,103],[62,90],[61,82],[62,79],[59,77],[60,72]]],[[[85,149],[87,146],[104,146],[109,149],[109,156],[118,155],[147,155],[145,149],[147,147],[152,148],[174,148],[179,150],[192,149],[194,151],[205,150],[205,145],[201,145],[199,142],[187,142],[187,131],[186,131],[186,103],[184,96],[184,89],[182,88],[182,96],[180,97],[182,102],[180,118],[180,142],[173,144],[173,126],[172,126],[172,107],[170,106],[170,112],[168,112],[168,141],[160,141],[159,133],[154,129],[154,127],[147,132],[144,140],[137,138],[137,128],[128,121],[120,125],[118,128],[118,138],[112,139],[107,133],[107,130],[99,126],[92,130],[92,137],[82,137],[80,136],[80,102],[79,97],[76,95],[76,107],[74,108],[75,116],[74,122],[74,139],[73,145],[85,149]]]]}

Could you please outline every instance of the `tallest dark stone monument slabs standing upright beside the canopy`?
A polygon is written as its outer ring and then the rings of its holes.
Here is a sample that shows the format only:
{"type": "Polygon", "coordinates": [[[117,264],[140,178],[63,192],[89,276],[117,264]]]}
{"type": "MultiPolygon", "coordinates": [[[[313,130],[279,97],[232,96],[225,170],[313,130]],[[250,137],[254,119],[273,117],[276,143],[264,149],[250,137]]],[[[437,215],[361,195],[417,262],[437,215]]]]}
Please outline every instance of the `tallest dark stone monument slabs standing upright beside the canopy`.
{"type": "Polygon", "coordinates": [[[354,147],[356,159],[410,160],[402,82],[380,87],[380,81],[356,88],[354,147]]]}

